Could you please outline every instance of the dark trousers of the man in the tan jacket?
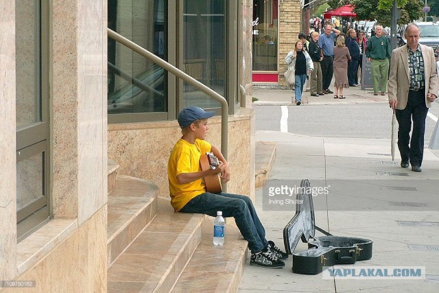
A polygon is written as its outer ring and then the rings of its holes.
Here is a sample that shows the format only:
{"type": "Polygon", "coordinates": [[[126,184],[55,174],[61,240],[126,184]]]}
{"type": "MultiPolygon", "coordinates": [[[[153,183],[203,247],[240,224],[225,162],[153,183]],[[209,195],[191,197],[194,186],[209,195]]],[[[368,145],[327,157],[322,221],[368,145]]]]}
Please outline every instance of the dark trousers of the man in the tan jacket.
{"type": "Polygon", "coordinates": [[[412,166],[420,166],[423,163],[425,119],[428,113],[425,106],[425,90],[409,91],[407,106],[404,110],[396,109],[395,113],[399,124],[398,148],[401,161],[410,161],[412,166]],[[410,139],[412,120],[413,132],[410,139]]]}

